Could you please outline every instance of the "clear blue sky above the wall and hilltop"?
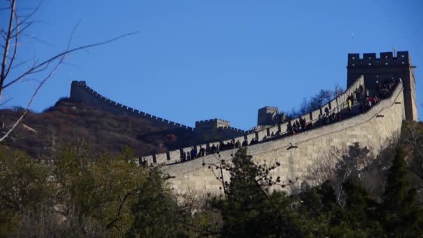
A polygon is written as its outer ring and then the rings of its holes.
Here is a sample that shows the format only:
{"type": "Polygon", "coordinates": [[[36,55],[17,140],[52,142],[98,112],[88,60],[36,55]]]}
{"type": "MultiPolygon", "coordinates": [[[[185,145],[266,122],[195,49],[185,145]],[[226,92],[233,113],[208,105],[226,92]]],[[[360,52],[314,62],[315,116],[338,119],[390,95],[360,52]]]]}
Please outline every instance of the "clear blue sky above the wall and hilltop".
{"type": "MultiPolygon", "coordinates": [[[[37,1],[18,1],[19,8],[37,1]]],[[[1,3],[4,4],[4,3],[1,3]]],[[[20,59],[137,35],[67,57],[32,109],[69,96],[72,80],[111,100],[193,126],[222,118],[248,129],[257,109],[290,111],[321,88],[345,87],[348,53],[410,51],[423,111],[423,1],[45,0],[20,59]]],[[[1,24],[6,13],[1,12],[1,24]]],[[[40,77],[39,75],[35,75],[40,77]]],[[[24,106],[33,81],[6,90],[24,106]]]]}

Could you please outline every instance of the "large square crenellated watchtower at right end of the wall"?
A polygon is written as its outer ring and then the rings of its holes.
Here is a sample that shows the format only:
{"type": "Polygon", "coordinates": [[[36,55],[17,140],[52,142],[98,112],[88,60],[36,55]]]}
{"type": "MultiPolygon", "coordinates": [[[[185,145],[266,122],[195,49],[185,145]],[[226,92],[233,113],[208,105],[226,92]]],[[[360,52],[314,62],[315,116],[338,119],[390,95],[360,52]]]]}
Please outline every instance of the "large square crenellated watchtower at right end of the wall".
{"type": "Polygon", "coordinates": [[[360,54],[348,54],[347,81],[349,87],[353,81],[360,77],[365,78],[365,87],[377,90],[384,81],[401,79],[404,86],[404,107],[406,120],[417,120],[417,99],[415,94],[414,68],[408,51],[381,52],[376,58],[376,53],[366,53],[360,58],[360,54]]]}

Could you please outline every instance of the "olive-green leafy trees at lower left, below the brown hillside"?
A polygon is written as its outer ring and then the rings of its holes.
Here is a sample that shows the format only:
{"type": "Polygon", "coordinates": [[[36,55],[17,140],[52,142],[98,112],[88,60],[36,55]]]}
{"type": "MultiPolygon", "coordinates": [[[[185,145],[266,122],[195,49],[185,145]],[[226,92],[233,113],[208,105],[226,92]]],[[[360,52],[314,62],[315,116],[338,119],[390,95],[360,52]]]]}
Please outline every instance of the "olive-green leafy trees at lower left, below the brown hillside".
{"type": "Polygon", "coordinates": [[[170,216],[177,209],[173,195],[159,170],[136,166],[130,159],[133,154],[125,149],[123,154],[93,161],[67,148],[53,164],[43,165],[22,152],[1,147],[0,236],[17,230],[22,234],[22,228],[33,225],[48,237],[68,236],[72,229],[58,223],[61,216],[76,223],[73,230],[80,235],[93,224],[99,229],[93,234],[113,237],[125,235],[130,228],[147,230],[140,232],[143,236],[152,230],[163,235],[166,225],[167,232],[174,234],[179,223],[176,216],[170,216]],[[40,219],[54,224],[37,222],[40,219]],[[46,233],[47,228],[51,231],[46,233]]]}

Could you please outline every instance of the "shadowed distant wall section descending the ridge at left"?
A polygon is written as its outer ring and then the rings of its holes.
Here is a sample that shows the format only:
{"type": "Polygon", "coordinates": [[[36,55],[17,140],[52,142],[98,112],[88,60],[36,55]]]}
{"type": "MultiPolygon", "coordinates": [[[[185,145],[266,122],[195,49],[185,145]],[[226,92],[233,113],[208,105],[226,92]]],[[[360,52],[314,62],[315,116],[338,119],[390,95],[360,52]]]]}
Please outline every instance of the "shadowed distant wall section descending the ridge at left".
{"type": "Polygon", "coordinates": [[[104,111],[111,111],[113,113],[124,114],[127,116],[144,118],[150,120],[153,125],[166,126],[170,128],[182,128],[187,129],[189,131],[193,131],[192,127],[188,127],[177,122],[159,118],[157,116],[153,116],[143,111],[138,111],[129,106],[125,106],[120,103],[109,100],[108,98],[103,97],[102,95],[97,93],[92,88],[88,87],[85,81],[72,81],[70,88],[70,99],[74,101],[88,102],[93,106],[104,111]]]}

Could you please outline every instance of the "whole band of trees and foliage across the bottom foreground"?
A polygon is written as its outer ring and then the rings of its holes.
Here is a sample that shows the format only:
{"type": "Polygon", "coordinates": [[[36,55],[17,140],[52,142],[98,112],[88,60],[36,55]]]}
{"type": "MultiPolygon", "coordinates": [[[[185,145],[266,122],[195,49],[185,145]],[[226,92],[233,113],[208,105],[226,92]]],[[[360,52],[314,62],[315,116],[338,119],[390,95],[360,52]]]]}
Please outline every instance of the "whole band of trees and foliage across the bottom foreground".
{"type": "Polygon", "coordinates": [[[136,166],[128,147],[102,157],[65,148],[47,164],[0,146],[0,237],[419,237],[422,181],[410,166],[421,148],[410,138],[421,134],[413,133],[374,161],[351,145],[335,177],[315,187],[303,182],[289,196],[280,188],[296,181],[271,177],[280,164],[255,164],[241,148],[232,163],[210,166],[223,196],[206,203],[173,195],[160,168],[136,166]],[[376,179],[380,196],[364,186],[376,179]]]}

